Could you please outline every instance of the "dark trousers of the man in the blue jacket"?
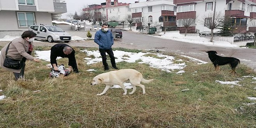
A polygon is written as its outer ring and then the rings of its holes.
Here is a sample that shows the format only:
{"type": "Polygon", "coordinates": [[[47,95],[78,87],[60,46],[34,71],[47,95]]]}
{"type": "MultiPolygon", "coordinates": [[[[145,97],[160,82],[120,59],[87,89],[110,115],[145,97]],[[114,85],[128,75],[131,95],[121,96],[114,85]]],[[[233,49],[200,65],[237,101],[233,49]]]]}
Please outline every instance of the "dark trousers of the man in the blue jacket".
{"type": "MultiPolygon", "coordinates": [[[[99,48],[99,49],[100,49],[100,48],[99,48]]],[[[112,67],[116,67],[115,57],[114,57],[114,53],[113,53],[113,51],[112,51],[112,48],[110,48],[110,49],[100,49],[100,55],[101,55],[101,57],[102,57],[102,63],[103,63],[103,65],[104,65],[104,66],[108,66],[108,65],[107,65],[107,56],[106,56],[106,52],[107,52],[107,54],[109,54],[112,67]]]]}

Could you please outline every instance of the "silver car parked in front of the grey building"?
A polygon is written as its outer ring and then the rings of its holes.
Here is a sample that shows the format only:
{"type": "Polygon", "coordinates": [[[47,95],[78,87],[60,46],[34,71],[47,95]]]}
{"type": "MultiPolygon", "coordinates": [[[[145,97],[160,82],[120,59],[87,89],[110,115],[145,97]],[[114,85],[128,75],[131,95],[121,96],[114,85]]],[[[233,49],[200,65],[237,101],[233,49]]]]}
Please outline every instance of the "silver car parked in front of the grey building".
{"type": "Polygon", "coordinates": [[[31,25],[28,29],[37,34],[36,40],[47,40],[48,42],[70,42],[71,35],[58,26],[45,26],[43,24],[31,25]]]}

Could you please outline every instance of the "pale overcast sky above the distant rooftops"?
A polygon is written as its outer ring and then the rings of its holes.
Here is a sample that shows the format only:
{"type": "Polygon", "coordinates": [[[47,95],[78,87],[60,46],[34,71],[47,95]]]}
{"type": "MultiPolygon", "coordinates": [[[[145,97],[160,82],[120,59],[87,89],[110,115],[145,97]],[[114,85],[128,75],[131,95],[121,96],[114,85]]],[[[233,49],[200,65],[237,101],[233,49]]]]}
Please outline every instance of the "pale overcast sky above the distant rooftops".
{"type": "MultiPolygon", "coordinates": [[[[135,3],[135,1],[144,2],[146,0],[118,0],[118,2],[122,3],[135,3]]],[[[67,3],[67,13],[62,14],[61,18],[67,18],[68,13],[77,13],[82,10],[84,6],[92,5],[92,4],[98,4],[106,2],[106,0],[65,0],[67,3]]],[[[114,2],[114,0],[111,0],[111,2],[114,2]]]]}

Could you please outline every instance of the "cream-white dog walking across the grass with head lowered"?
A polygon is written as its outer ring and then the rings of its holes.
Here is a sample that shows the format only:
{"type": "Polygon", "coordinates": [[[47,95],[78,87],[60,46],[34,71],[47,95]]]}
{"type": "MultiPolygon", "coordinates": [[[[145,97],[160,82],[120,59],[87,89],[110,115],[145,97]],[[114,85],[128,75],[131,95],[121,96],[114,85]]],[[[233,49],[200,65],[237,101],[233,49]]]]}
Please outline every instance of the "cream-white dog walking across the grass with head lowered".
{"type": "Polygon", "coordinates": [[[132,94],[135,92],[136,86],[140,86],[142,88],[143,94],[145,94],[145,86],[140,84],[140,82],[149,83],[153,80],[145,80],[142,77],[142,74],[134,69],[120,69],[116,71],[102,73],[102,74],[99,74],[98,76],[95,76],[93,78],[91,85],[97,85],[97,84],[106,85],[103,92],[97,95],[105,94],[112,85],[121,86],[124,90],[123,95],[126,95],[127,90],[124,86],[124,82],[127,82],[127,81],[130,81],[133,88],[132,92],[130,92],[129,94],[132,94]]]}

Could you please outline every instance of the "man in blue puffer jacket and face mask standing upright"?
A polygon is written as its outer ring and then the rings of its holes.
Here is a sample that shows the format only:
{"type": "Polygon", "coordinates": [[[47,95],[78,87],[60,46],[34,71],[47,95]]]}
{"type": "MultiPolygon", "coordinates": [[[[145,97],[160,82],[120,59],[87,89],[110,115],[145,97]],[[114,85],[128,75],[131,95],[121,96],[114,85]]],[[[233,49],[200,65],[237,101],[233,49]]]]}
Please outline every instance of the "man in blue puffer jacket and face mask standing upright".
{"type": "Polygon", "coordinates": [[[118,69],[116,67],[114,53],[111,48],[112,45],[114,44],[114,38],[107,24],[102,24],[102,28],[95,33],[94,42],[99,45],[99,50],[100,50],[100,55],[102,56],[102,63],[104,66],[104,70],[105,71],[109,70],[109,66],[107,64],[106,52],[107,54],[109,54],[112,68],[118,69]]]}

